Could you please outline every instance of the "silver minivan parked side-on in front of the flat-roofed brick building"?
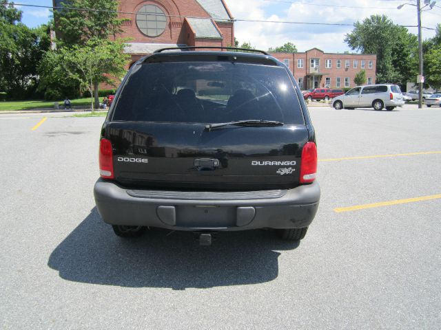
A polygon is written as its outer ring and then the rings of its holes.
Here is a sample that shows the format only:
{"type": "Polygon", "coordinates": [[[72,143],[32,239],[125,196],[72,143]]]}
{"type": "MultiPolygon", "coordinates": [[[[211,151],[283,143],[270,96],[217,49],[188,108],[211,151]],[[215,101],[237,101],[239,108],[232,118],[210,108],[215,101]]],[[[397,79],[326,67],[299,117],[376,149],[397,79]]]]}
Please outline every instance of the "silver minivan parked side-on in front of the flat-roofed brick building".
{"type": "Polygon", "coordinates": [[[374,110],[388,111],[404,105],[400,87],[397,85],[367,85],[349,89],[345,94],[337,96],[331,102],[335,109],[354,109],[373,107],[374,110]]]}

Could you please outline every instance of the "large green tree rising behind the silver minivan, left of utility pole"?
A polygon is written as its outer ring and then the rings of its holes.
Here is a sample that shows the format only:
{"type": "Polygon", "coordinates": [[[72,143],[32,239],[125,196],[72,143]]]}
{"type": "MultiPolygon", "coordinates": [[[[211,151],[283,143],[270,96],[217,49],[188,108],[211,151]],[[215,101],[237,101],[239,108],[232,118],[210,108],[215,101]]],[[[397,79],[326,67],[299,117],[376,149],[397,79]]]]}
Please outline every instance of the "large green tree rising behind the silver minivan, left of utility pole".
{"type": "Polygon", "coordinates": [[[345,42],[352,50],[377,55],[378,83],[404,84],[418,68],[415,67],[416,37],[385,15],[372,15],[362,23],[355,23],[345,42]]]}

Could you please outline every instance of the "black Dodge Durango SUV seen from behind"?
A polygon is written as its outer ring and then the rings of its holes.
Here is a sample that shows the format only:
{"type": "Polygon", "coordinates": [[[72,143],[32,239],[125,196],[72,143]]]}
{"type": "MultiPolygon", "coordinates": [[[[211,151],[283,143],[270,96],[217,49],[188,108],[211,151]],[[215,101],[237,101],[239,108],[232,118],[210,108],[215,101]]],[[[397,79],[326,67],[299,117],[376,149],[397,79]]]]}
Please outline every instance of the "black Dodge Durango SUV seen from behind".
{"type": "Polygon", "coordinates": [[[316,135],[294,76],[260,53],[160,50],[132,66],[101,130],[94,186],[117,235],[305,236],[320,199],[316,135]]]}

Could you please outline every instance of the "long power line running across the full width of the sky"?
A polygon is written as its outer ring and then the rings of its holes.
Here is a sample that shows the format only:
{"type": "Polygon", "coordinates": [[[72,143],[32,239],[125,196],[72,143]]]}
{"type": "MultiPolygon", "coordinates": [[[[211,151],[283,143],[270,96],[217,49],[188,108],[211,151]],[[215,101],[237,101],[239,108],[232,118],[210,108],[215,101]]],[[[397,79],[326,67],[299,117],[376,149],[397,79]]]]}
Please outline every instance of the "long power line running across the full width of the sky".
{"type": "MultiPolygon", "coordinates": [[[[11,5],[19,5],[23,7],[37,7],[37,8],[50,8],[50,9],[61,9],[61,10],[78,10],[85,12],[109,12],[116,14],[143,14],[136,12],[119,12],[115,10],[103,10],[103,9],[91,9],[91,8],[72,8],[72,7],[52,7],[49,5],[28,5],[24,3],[10,3],[11,5]]],[[[145,14],[147,15],[147,14],[145,14]]],[[[176,17],[176,18],[188,18],[188,19],[212,19],[212,17],[194,17],[194,16],[182,16],[182,15],[167,15],[167,14],[156,14],[157,16],[164,17],[176,17]]],[[[228,22],[251,22],[251,23],[280,23],[280,24],[296,24],[296,25],[327,25],[327,26],[353,26],[355,23],[322,23],[322,22],[296,22],[296,21],[266,21],[266,20],[258,20],[258,19],[216,19],[217,21],[228,21],[228,22]]],[[[378,25],[381,26],[381,25],[378,25]]],[[[417,28],[417,25],[398,25],[403,28],[417,28]]],[[[433,28],[425,28],[426,30],[436,30],[433,28]]]]}

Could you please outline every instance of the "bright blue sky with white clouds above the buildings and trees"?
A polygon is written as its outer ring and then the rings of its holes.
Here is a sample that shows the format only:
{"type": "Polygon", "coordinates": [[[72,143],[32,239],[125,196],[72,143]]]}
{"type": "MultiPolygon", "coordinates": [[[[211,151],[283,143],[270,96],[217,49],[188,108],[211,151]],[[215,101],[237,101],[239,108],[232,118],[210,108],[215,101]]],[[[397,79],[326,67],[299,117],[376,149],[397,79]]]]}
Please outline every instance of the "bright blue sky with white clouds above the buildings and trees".
{"type": "MultiPolygon", "coordinates": [[[[424,0],[421,0],[424,2],[424,0]]],[[[433,1],[433,0],[432,0],[433,1]]],[[[16,3],[52,5],[52,0],[15,0],[16,3]]],[[[402,3],[416,3],[415,0],[225,0],[235,19],[258,21],[296,21],[316,23],[353,24],[372,14],[386,14],[393,23],[417,25],[416,7],[402,3]]],[[[433,10],[422,13],[422,26],[435,28],[441,21],[441,1],[433,10]]],[[[43,8],[19,7],[23,11],[23,23],[34,27],[46,23],[50,11],[43,8]]],[[[416,28],[408,28],[417,34],[416,28]]],[[[239,43],[249,42],[260,50],[277,47],[291,42],[299,52],[318,47],[325,52],[351,52],[345,43],[345,34],[351,26],[301,25],[287,23],[260,23],[236,21],[234,33],[239,43]]],[[[431,38],[434,31],[422,30],[423,39],[431,38]]]]}

